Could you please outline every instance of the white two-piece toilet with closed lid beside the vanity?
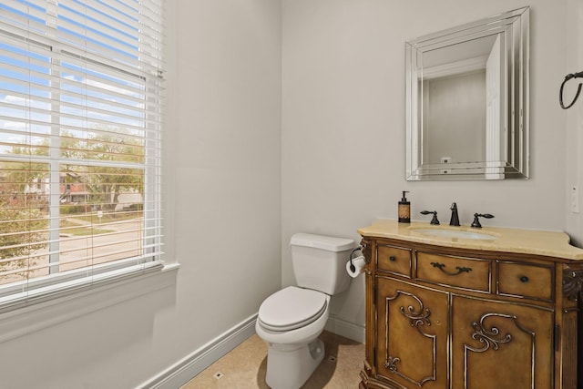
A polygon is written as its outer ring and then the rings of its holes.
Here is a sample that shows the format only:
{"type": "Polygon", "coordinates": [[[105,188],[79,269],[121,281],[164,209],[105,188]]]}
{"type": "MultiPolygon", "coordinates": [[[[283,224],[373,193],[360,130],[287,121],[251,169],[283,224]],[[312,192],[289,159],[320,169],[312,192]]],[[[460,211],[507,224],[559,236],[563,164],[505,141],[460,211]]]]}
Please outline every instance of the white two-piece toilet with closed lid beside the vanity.
{"type": "Polygon", "coordinates": [[[297,233],[290,241],[297,286],[261,303],[255,331],[269,343],[265,381],[272,389],[298,389],[324,357],[322,333],[332,295],[345,291],[351,239],[297,233]]]}

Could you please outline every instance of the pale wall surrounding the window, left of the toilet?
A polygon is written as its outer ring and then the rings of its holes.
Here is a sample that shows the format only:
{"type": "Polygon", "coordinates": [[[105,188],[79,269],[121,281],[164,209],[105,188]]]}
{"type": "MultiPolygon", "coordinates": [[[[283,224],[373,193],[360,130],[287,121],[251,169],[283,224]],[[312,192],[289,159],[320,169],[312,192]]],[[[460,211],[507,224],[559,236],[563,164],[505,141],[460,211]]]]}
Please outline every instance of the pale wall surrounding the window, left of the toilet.
{"type": "Polygon", "coordinates": [[[281,5],[168,3],[165,249],[181,264],[176,282],[0,343],[3,388],[135,387],[281,286],[281,5]]]}

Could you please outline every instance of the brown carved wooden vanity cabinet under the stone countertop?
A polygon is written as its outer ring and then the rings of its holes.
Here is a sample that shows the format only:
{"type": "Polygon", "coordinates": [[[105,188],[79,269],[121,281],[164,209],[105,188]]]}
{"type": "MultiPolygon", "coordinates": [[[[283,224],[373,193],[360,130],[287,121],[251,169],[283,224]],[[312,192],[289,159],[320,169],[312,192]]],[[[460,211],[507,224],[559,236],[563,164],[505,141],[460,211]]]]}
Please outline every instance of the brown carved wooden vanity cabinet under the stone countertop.
{"type": "Polygon", "coordinates": [[[568,261],[366,236],[362,245],[361,389],[578,388],[577,292],[564,284],[580,279],[564,278],[568,261]]]}

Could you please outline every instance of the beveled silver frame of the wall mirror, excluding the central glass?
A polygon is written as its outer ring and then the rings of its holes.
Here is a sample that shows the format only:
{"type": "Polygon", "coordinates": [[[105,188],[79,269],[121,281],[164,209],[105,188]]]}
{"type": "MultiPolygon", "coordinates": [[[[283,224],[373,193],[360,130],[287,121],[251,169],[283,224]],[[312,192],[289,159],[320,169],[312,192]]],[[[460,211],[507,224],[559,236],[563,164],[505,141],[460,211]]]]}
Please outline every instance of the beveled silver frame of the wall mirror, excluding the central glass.
{"type": "Polygon", "coordinates": [[[529,7],[422,36],[405,43],[405,155],[407,180],[528,179],[529,177],[529,7]],[[485,36],[500,35],[504,45],[500,115],[506,131],[501,161],[423,163],[423,55],[485,36]]]}

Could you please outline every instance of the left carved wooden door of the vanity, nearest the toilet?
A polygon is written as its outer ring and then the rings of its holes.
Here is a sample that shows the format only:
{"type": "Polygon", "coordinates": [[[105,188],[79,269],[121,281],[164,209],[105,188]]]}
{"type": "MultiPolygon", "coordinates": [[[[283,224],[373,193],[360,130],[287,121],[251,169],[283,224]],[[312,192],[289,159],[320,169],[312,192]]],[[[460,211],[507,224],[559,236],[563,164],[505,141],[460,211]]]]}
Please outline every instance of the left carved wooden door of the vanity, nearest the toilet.
{"type": "Polygon", "coordinates": [[[448,294],[378,279],[377,376],[399,387],[448,387],[448,294]]]}

